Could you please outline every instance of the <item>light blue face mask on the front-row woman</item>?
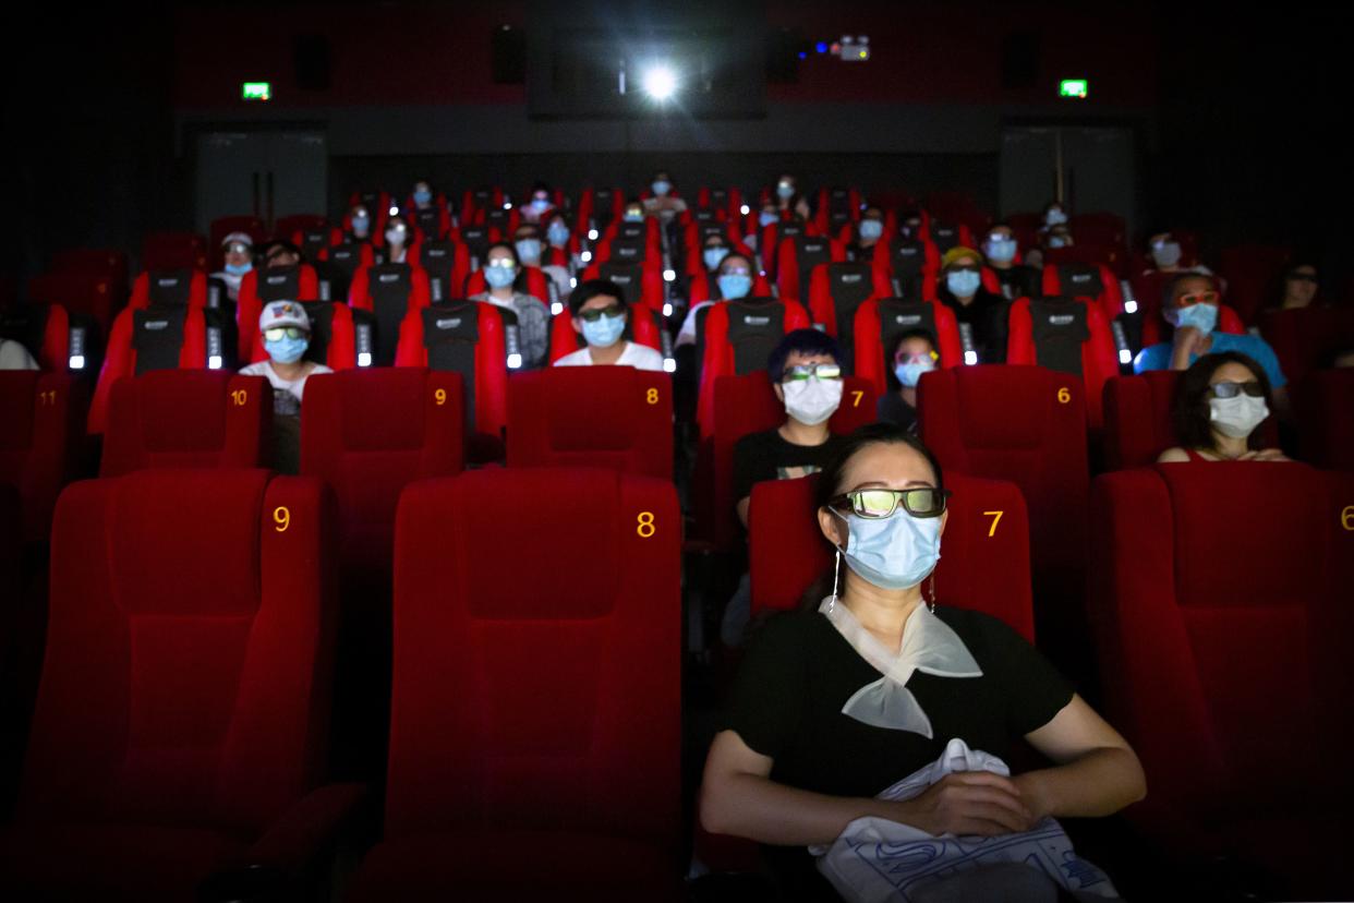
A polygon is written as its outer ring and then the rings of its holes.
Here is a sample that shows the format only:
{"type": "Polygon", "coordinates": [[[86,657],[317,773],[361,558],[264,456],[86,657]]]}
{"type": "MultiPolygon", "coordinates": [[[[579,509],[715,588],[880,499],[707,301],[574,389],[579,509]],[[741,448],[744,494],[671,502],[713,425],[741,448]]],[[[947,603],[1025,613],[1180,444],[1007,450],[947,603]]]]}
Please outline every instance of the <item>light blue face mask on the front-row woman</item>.
{"type": "Polygon", "coordinates": [[[917,586],[940,562],[940,517],[913,517],[902,505],[890,517],[841,514],[849,536],[846,565],[880,589],[917,586]]]}

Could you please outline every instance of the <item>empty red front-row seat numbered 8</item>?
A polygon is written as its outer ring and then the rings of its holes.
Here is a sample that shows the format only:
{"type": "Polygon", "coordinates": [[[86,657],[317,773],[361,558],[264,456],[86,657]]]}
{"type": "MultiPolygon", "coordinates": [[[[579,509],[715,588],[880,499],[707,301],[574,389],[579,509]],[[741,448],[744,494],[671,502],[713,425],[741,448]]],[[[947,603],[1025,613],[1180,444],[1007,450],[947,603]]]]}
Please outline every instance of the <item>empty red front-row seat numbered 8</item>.
{"type": "Polygon", "coordinates": [[[395,535],[385,838],[349,899],[684,899],[672,483],[471,471],[410,486],[395,535]]]}

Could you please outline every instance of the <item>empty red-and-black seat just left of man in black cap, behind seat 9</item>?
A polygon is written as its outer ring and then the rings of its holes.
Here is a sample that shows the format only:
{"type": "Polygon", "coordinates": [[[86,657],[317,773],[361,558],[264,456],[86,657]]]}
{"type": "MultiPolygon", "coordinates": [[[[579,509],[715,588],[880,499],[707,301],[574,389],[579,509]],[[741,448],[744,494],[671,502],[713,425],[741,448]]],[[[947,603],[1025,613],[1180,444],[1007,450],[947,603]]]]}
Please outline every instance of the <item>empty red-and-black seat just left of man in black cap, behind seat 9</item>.
{"type": "Polygon", "coordinates": [[[508,425],[504,343],[502,315],[493,305],[474,301],[433,305],[405,317],[395,366],[460,374],[466,435],[501,443],[508,425]]]}

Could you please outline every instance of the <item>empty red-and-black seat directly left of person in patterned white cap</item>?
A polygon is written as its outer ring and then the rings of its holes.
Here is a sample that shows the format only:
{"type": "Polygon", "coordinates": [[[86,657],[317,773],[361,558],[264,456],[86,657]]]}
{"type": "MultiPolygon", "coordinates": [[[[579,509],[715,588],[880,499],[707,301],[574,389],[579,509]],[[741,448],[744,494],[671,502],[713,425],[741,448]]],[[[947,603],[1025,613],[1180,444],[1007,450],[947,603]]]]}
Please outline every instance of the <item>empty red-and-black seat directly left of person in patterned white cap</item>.
{"type": "Polygon", "coordinates": [[[126,309],[118,314],[89,405],[89,433],[102,433],[112,384],[152,370],[204,370],[207,345],[221,345],[221,330],[209,330],[200,307],[126,309]]]}

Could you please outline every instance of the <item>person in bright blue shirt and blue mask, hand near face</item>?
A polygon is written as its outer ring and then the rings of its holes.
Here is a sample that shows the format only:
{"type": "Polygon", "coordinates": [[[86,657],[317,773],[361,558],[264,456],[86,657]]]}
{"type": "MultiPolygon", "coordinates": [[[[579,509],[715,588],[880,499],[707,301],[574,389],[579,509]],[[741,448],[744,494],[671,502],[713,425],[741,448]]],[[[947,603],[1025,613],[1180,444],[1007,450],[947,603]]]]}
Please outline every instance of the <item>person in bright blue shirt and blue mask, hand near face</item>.
{"type": "Polygon", "coordinates": [[[1259,336],[1217,332],[1217,282],[1209,275],[1182,272],[1171,280],[1162,299],[1162,317],[1175,328],[1171,341],[1144,348],[1133,361],[1133,372],[1148,370],[1187,370],[1204,355],[1235,351],[1252,359],[1265,370],[1274,393],[1274,406],[1281,417],[1286,414],[1288,380],[1280,370],[1278,357],[1259,336]]]}

